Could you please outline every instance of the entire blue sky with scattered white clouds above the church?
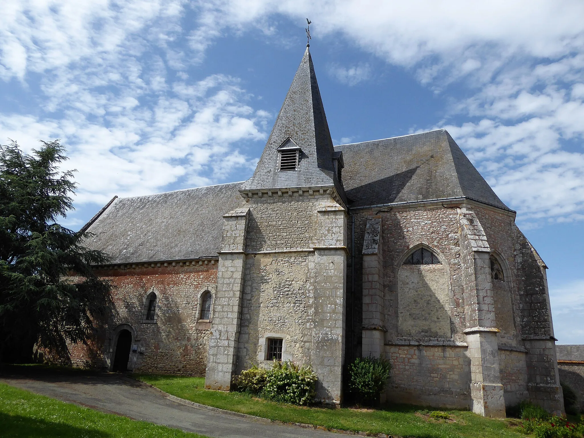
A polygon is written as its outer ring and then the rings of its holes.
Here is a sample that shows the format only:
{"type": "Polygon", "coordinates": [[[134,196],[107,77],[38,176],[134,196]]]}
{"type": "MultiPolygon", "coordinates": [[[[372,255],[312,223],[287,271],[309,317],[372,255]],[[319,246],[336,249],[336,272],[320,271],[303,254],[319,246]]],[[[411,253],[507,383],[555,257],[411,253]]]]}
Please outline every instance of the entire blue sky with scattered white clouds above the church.
{"type": "Polygon", "coordinates": [[[584,3],[5,0],[0,141],[61,138],[78,229],[112,196],[247,179],[305,48],[335,144],[447,128],[584,343],[584,3]]]}

